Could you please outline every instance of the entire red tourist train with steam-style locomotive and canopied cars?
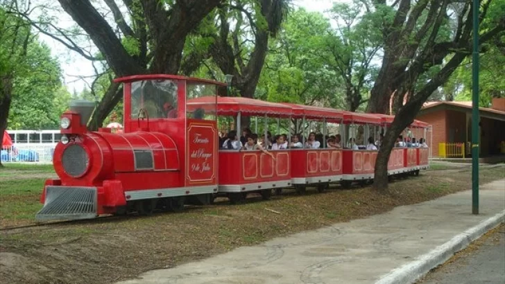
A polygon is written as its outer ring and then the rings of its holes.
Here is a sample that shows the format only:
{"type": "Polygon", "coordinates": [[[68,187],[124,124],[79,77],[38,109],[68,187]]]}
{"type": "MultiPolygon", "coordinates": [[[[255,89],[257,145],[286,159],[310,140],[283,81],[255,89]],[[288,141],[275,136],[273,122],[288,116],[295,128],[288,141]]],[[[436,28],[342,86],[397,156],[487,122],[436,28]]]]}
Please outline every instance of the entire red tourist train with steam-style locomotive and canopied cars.
{"type": "MultiPolygon", "coordinates": [[[[46,180],[36,220],[180,211],[185,204],[212,204],[218,195],[239,202],[248,193],[268,199],[273,189],[280,193],[291,186],[303,192],[308,185],[322,191],[332,182],[363,183],[374,177],[377,150],[354,143],[332,148],[327,139],[318,145],[311,132],[320,127],[329,134],[331,125],[338,125],[336,143],[355,141],[359,134],[377,139],[377,130],[385,131],[393,121],[393,116],[218,96],[226,85],[211,80],[142,75],[116,81],[123,83],[123,133],[88,131],[94,103],[72,102],[61,116],[63,135],[54,152],[58,179],[46,180]],[[277,120],[277,132],[284,127],[288,141],[311,147],[220,149],[217,121],[230,116],[235,125],[254,118],[256,133],[260,122],[264,145],[277,120]],[[292,140],[292,132],[308,138],[297,134],[292,140]]],[[[423,136],[427,127],[420,121],[411,125],[424,130],[423,136]]],[[[394,148],[388,173],[418,173],[428,168],[428,155],[427,147],[394,148]]]]}

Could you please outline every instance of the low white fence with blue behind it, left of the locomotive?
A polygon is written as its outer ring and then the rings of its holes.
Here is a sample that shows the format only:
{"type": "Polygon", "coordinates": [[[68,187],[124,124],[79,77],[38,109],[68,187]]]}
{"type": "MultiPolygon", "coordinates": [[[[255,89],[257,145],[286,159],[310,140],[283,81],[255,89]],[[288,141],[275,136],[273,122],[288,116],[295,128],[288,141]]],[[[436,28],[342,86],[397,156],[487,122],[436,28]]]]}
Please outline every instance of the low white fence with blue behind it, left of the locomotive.
{"type": "Polygon", "coordinates": [[[2,146],[0,160],[2,163],[9,162],[40,162],[51,163],[53,161],[55,144],[28,144],[19,143],[14,146],[2,146]]]}

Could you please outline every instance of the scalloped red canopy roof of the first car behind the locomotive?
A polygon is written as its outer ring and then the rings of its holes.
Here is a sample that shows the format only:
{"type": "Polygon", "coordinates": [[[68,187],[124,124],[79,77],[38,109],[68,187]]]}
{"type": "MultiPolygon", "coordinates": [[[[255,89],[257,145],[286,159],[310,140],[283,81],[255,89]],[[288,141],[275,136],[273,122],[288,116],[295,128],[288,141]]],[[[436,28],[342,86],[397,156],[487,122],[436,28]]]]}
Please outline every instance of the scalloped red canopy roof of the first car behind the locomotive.
{"type": "MultiPolygon", "coordinates": [[[[191,112],[198,108],[207,111],[214,109],[215,98],[206,96],[192,98],[187,101],[187,111],[191,112]]],[[[217,97],[217,114],[221,116],[236,116],[238,113],[242,116],[291,116],[292,109],[287,105],[280,103],[270,103],[263,100],[241,97],[217,97]]]]}

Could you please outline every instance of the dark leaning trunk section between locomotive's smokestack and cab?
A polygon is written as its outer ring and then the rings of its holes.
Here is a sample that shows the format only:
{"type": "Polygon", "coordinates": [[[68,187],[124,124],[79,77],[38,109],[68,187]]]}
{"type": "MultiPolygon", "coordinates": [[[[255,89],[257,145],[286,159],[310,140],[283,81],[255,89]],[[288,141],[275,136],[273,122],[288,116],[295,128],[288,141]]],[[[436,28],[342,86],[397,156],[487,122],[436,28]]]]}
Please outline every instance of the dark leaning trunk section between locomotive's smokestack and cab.
{"type": "Polygon", "coordinates": [[[121,98],[123,98],[123,87],[119,83],[111,82],[109,89],[105,92],[99,105],[96,106],[92,118],[87,124],[88,129],[96,131],[99,127],[102,127],[103,121],[112,112],[112,109],[116,107],[121,98]]]}

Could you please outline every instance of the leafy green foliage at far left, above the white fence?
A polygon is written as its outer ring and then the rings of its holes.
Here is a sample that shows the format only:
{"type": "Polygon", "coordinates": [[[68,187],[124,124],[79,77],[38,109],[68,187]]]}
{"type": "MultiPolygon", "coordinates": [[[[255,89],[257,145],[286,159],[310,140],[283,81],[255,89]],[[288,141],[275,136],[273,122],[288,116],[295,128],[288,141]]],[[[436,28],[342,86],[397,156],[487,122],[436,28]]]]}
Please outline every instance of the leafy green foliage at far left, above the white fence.
{"type": "MultiPolygon", "coordinates": [[[[61,69],[48,46],[40,44],[30,26],[10,11],[10,1],[0,8],[0,75],[9,78],[12,90],[8,113],[10,129],[51,129],[58,127],[59,116],[69,96],[62,89],[61,69]],[[8,11],[3,8],[9,9],[8,11]]],[[[0,125],[4,121],[0,121],[0,125]]]]}

